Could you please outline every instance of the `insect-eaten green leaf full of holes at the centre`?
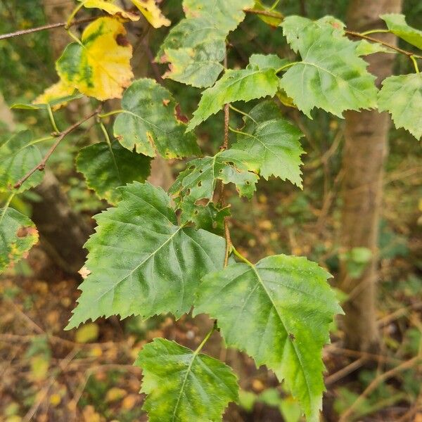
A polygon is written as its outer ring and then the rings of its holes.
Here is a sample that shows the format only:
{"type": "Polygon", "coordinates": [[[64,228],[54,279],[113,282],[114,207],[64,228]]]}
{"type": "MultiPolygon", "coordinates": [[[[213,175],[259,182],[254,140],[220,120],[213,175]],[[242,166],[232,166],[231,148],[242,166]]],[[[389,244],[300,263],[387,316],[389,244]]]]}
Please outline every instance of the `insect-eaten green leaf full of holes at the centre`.
{"type": "Polygon", "coordinates": [[[188,162],[170,188],[170,193],[177,195],[174,202],[182,210],[182,221],[195,221],[198,203],[204,199],[205,205],[210,203],[217,180],[236,184],[239,195],[252,198],[258,177],[250,172],[253,164],[249,160],[250,156],[243,151],[226,150],[188,162]]]}

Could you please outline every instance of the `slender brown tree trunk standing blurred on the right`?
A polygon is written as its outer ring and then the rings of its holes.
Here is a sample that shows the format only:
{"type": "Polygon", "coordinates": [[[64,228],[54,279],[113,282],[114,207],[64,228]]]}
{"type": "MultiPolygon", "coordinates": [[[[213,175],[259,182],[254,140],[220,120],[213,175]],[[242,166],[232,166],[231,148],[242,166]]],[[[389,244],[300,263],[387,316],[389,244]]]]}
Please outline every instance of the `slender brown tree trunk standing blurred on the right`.
{"type": "MultiPolygon", "coordinates": [[[[352,0],[347,27],[363,32],[383,27],[382,13],[399,13],[402,0],[352,0]]],[[[376,34],[378,39],[395,44],[392,34],[376,34]]],[[[376,53],[367,56],[369,72],[379,85],[391,75],[395,56],[376,53]]],[[[346,113],[343,151],[343,212],[340,229],[342,252],[368,248],[372,255],[358,278],[347,274],[341,263],[340,288],[350,295],[344,305],[343,328],[347,347],[376,350],[379,345],[376,325],[376,283],[378,281],[378,226],[383,196],[383,165],[388,154],[390,118],[378,111],[346,113]]]]}

